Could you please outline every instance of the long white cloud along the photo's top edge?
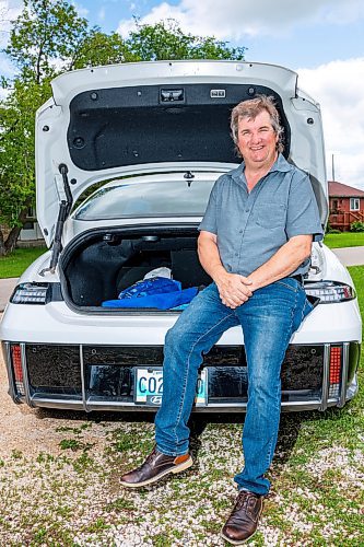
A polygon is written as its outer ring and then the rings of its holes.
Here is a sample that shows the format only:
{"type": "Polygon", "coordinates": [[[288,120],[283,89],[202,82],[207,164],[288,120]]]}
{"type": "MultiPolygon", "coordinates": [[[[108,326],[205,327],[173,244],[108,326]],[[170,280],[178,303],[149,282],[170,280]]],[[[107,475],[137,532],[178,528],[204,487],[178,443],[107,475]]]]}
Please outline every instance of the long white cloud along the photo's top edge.
{"type": "MultiPolygon", "coordinates": [[[[180,0],[177,5],[162,2],[141,23],[176,19],[185,32],[240,39],[244,36],[278,36],[290,33],[297,23],[348,24],[364,18],[362,0],[180,0]]],[[[124,36],[133,28],[131,19],[120,22],[124,36]]]]}

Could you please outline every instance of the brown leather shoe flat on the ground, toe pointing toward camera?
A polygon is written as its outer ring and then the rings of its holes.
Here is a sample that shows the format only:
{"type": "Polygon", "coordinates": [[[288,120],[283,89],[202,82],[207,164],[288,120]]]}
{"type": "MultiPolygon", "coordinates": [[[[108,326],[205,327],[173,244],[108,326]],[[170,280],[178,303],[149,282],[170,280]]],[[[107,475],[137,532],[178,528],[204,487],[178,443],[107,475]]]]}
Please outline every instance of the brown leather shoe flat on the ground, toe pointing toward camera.
{"type": "Polygon", "coordinates": [[[242,545],[257,531],[262,511],[263,496],[240,490],[226,524],[221,531],[222,537],[232,545],[242,545]]]}

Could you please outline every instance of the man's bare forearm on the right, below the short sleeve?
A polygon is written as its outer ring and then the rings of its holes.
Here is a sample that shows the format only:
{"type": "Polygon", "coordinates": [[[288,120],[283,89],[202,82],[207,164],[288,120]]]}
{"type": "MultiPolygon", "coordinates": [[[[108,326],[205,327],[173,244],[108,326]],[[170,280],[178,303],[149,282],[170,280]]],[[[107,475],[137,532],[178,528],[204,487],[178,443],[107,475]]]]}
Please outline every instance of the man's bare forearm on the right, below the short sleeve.
{"type": "Polygon", "coordinates": [[[290,276],[310,256],[310,236],[296,236],[290,240],[267,263],[248,276],[253,282],[251,290],[255,291],[290,276]]]}

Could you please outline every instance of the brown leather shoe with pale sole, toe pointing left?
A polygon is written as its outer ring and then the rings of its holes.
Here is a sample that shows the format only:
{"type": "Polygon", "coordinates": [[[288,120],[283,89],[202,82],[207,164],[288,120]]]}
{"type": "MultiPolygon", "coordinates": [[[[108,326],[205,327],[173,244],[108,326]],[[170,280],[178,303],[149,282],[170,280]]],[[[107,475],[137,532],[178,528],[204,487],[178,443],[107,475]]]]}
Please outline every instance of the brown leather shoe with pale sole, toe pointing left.
{"type": "Polygon", "coordinates": [[[180,473],[193,464],[187,453],[183,456],[167,456],[154,447],[145,462],[137,469],[120,477],[120,484],[127,488],[140,488],[152,485],[169,473],[180,473]]]}

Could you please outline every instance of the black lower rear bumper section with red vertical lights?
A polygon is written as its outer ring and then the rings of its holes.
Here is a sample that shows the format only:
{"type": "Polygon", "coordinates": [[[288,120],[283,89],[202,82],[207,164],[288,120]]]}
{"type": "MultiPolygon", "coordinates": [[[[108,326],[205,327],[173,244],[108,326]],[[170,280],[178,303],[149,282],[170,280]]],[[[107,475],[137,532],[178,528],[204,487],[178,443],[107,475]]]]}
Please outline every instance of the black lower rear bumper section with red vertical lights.
{"type": "MultiPolygon", "coordinates": [[[[141,365],[160,366],[162,346],[3,342],[3,352],[9,391],[15,403],[87,412],[157,409],[134,400],[134,370],[141,365]]],[[[291,345],[282,366],[282,410],[342,407],[357,391],[359,360],[357,341],[291,345]]],[[[208,396],[206,404],[195,406],[193,411],[244,412],[244,347],[215,346],[202,368],[208,371],[208,396]]]]}

